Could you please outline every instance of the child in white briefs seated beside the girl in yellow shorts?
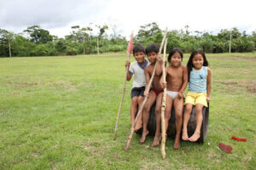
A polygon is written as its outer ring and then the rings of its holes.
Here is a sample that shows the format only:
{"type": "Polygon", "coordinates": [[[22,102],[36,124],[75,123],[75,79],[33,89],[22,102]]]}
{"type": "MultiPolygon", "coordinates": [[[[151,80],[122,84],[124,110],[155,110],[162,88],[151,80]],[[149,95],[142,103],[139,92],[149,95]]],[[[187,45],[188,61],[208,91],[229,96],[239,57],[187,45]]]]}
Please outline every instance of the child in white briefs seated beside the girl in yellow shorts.
{"type": "MultiPolygon", "coordinates": [[[[188,85],[188,71],[186,66],[181,65],[183,54],[178,48],[173,48],[168,56],[171,64],[166,67],[166,129],[172,115],[172,104],[175,109],[176,136],[174,149],[180,146],[180,133],[183,123],[183,91],[188,85]]],[[[162,80],[161,80],[162,82],[162,80]]]]}

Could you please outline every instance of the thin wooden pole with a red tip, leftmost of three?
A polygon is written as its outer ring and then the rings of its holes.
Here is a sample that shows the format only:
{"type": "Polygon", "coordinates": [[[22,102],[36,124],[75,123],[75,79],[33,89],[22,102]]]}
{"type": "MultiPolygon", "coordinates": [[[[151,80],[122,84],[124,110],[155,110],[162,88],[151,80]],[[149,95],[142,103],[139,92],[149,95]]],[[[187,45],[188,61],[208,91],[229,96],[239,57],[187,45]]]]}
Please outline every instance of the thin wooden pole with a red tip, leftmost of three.
{"type": "MultiPolygon", "coordinates": [[[[132,42],[133,42],[133,31],[131,32],[130,42],[128,43],[128,47],[127,47],[127,54],[128,54],[128,61],[129,62],[130,62],[131,51],[132,51],[132,42]]],[[[120,112],[121,112],[124,97],[125,97],[126,77],[127,77],[128,71],[129,71],[129,67],[126,66],[125,67],[125,83],[124,83],[124,88],[123,88],[123,95],[122,95],[122,98],[121,98],[121,101],[120,101],[119,112],[118,112],[118,115],[117,115],[117,118],[116,118],[113,140],[116,139],[116,135],[117,135],[117,129],[118,129],[118,125],[119,125],[119,116],[120,116],[120,112]]]]}

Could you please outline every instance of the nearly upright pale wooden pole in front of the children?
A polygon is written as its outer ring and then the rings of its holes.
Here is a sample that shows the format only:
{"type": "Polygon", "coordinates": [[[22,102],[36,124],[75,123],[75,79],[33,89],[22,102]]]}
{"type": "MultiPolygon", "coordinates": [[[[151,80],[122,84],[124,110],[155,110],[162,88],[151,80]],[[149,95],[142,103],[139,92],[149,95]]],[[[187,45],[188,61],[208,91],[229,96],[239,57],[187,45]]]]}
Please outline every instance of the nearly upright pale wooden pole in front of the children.
{"type": "MultiPolygon", "coordinates": [[[[164,59],[163,59],[163,64],[162,64],[164,83],[166,83],[166,65],[165,65],[166,64],[166,45],[167,45],[167,38],[165,40],[164,59]]],[[[161,127],[162,127],[161,154],[162,154],[163,159],[166,159],[165,110],[166,110],[166,88],[164,88],[164,95],[163,95],[162,107],[161,107],[161,127]]]]}

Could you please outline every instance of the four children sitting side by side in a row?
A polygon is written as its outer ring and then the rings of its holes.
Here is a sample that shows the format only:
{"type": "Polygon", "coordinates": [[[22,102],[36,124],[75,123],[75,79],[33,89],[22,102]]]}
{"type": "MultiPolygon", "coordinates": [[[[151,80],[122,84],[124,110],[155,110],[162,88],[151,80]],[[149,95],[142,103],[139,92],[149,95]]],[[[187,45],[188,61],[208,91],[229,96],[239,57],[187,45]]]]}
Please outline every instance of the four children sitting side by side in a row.
{"type": "Polygon", "coordinates": [[[182,65],[183,53],[178,48],[173,48],[168,55],[170,65],[166,66],[166,82],[162,77],[162,59],[159,54],[160,48],[157,44],[150,44],[146,49],[141,44],[137,44],[132,53],[136,61],[130,64],[126,61],[125,66],[129,67],[126,80],[130,81],[132,75],[133,86],[131,89],[131,125],[135,121],[137,108],[143,104],[144,96],[148,96],[148,100],[143,108],[143,114],[139,117],[135,131],[143,127],[143,134],[140,142],[143,144],[148,135],[148,119],[149,111],[154,102],[155,105],[155,121],[156,132],[154,134],[154,142],[152,146],[160,144],[160,122],[161,122],[161,105],[163,98],[163,89],[166,88],[166,110],[165,122],[166,130],[168,122],[171,118],[172,106],[175,109],[175,126],[176,137],[174,149],[180,146],[180,135],[183,130],[182,139],[191,142],[197,141],[201,135],[201,124],[203,121],[202,108],[207,107],[210,101],[211,93],[211,70],[207,67],[208,62],[206,55],[201,50],[195,50],[189,57],[187,66],[182,65]],[[145,59],[147,55],[147,59],[145,59]],[[152,85],[149,87],[149,80],[156,65],[155,75],[152,85]],[[185,98],[185,111],[183,115],[183,92],[189,83],[189,91],[185,98]],[[149,93],[147,93],[150,89],[149,93]],[[195,133],[189,138],[188,122],[192,107],[195,105],[195,133]],[[182,128],[183,126],[183,128],[182,128]]]}

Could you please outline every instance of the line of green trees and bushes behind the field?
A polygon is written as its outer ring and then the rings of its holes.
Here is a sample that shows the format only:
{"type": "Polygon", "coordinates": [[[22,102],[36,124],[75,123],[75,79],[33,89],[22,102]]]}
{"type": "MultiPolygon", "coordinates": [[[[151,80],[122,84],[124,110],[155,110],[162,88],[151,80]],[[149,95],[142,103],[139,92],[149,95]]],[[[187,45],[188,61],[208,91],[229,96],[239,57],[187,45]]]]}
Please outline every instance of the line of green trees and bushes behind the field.
{"type": "MultiPolygon", "coordinates": [[[[18,34],[0,29],[0,57],[100,54],[126,50],[127,40],[117,34],[116,26],[72,26],[71,30],[65,37],[56,37],[41,26],[29,26],[18,34]],[[108,35],[106,31],[110,27],[113,33],[108,35]]],[[[134,43],[142,43],[145,47],[150,43],[160,44],[162,32],[155,22],[140,26],[134,43]]],[[[229,50],[243,53],[253,52],[256,48],[256,31],[249,35],[236,27],[222,29],[213,35],[208,31],[189,31],[189,26],[185,26],[184,29],[168,31],[167,37],[167,51],[180,48],[189,53],[200,48],[206,53],[226,53],[229,50]]]]}

